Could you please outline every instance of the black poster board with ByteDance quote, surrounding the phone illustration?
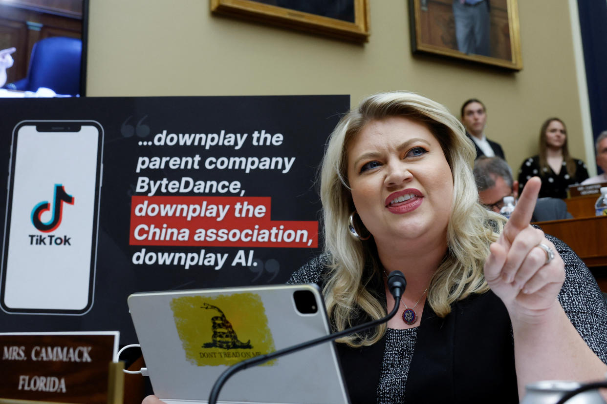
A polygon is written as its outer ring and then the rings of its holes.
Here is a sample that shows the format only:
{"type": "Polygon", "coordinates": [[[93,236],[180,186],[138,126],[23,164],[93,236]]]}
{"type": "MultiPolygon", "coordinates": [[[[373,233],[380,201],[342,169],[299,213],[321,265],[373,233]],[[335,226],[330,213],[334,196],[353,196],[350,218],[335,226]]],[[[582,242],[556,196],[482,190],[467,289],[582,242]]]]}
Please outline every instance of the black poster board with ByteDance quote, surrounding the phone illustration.
{"type": "MultiPolygon", "coordinates": [[[[96,121],[103,128],[90,310],[68,315],[3,308],[0,331],[118,329],[121,343],[131,343],[131,293],[285,282],[322,244],[316,233],[317,167],[328,134],[349,104],[348,96],[0,100],[5,231],[16,125],[96,121]]],[[[39,173],[53,170],[53,164],[27,164],[39,173]]],[[[44,185],[50,204],[52,187],[44,185]]],[[[27,210],[38,202],[27,201],[27,210]]],[[[67,217],[76,205],[65,204],[61,214],[67,217]]]]}

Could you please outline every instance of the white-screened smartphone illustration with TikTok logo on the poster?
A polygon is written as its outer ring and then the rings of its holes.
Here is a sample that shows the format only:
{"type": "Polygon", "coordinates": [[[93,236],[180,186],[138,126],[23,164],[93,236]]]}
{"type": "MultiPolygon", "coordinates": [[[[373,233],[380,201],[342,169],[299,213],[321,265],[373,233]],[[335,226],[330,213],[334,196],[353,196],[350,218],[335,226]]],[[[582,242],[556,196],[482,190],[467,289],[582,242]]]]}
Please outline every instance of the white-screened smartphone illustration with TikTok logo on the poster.
{"type": "Polygon", "coordinates": [[[87,313],[93,305],[103,128],[23,121],[13,130],[0,306],[13,314],[87,313]]]}

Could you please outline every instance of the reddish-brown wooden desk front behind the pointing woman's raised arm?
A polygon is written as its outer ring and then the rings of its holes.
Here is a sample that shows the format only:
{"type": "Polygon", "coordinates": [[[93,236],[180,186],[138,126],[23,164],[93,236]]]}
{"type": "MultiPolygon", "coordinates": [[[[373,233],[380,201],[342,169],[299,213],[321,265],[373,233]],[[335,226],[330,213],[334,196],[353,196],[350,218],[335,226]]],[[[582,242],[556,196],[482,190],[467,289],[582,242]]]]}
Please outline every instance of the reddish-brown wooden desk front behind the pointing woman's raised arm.
{"type": "Polygon", "coordinates": [[[577,217],[535,223],[563,240],[586,263],[601,290],[607,291],[607,216],[577,217]]]}

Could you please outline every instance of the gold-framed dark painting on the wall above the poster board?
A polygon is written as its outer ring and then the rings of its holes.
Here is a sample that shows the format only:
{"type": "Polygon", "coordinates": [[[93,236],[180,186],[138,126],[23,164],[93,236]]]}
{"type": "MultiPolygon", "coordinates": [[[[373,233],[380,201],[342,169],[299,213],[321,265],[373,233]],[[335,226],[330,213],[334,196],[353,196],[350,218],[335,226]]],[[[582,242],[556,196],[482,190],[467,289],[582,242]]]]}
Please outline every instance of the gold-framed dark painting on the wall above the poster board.
{"type": "Polygon", "coordinates": [[[367,42],[369,1],[211,0],[211,12],[347,41],[367,42]]]}

